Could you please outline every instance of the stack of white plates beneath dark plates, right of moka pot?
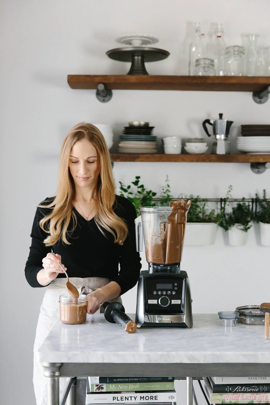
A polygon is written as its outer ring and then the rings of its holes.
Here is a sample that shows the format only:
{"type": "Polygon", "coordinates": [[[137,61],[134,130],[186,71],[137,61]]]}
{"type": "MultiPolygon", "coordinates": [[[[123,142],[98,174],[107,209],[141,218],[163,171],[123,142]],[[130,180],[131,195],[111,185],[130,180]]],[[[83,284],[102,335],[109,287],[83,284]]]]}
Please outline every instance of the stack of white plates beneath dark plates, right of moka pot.
{"type": "Polygon", "coordinates": [[[238,136],[236,147],[244,153],[269,154],[270,136],[238,136]]]}

